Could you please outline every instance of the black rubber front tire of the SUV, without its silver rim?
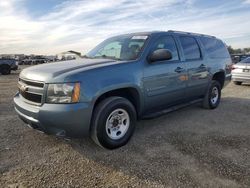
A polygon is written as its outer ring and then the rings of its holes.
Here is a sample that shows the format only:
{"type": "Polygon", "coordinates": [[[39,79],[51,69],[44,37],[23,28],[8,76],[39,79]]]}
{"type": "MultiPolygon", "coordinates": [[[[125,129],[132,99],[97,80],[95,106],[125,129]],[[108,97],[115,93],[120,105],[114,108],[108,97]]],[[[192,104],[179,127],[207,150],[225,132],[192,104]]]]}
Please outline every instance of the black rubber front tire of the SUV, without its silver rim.
{"type": "Polygon", "coordinates": [[[133,105],[129,101],[123,98],[118,98],[114,101],[111,101],[109,104],[107,104],[107,106],[103,110],[99,112],[97,121],[95,121],[95,123],[97,123],[96,136],[99,143],[103,147],[108,149],[114,149],[125,145],[134,132],[135,122],[136,122],[135,110],[133,105]],[[106,121],[109,115],[118,108],[123,109],[128,113],[130,124],[125,135],[118,140],[114,140],[111,139],[106,132],[106,121]]]}

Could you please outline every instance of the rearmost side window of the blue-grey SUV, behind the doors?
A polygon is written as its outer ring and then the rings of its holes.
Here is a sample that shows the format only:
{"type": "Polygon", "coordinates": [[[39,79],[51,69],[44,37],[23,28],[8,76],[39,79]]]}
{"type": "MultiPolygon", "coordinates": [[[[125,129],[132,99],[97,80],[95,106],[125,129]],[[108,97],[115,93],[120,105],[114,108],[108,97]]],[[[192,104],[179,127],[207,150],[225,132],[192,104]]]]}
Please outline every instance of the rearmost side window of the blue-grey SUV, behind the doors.
{"type": "Polygon", "coordinates": [[[210,58],[229,57],[228,50],[221,40],[209,37],[201,37],[201,42],[210,58]]]}

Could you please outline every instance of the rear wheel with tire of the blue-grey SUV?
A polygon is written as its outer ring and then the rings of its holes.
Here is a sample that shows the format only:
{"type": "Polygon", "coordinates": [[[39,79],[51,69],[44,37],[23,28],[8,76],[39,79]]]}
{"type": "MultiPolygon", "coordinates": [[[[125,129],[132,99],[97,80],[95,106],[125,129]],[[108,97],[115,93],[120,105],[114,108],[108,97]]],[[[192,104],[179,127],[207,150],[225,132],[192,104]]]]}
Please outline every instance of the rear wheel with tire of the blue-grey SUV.
{"type": "Polygon", "coordinates": [[[218,81],[212,80],[209,89],[203,99],[203,108],[215,109],[219,106],[221,99],[221,85],[218,81]]]}

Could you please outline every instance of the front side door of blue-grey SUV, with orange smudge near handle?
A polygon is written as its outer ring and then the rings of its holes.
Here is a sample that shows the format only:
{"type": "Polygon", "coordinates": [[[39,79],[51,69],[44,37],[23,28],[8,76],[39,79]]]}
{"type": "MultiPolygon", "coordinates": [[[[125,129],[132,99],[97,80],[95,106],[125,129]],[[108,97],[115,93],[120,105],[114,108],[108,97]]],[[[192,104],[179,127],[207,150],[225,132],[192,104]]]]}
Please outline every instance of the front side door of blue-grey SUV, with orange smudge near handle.
{"type": "Polygon", "coordinates": [[[180,61],[174,38],[170,35],[159,37],[151,45],[148,55],[157,49],[171,51],[172,59],[146,62],[143,85],[147,111],[180,103],[186,96],[186,69],[180,61]]]}

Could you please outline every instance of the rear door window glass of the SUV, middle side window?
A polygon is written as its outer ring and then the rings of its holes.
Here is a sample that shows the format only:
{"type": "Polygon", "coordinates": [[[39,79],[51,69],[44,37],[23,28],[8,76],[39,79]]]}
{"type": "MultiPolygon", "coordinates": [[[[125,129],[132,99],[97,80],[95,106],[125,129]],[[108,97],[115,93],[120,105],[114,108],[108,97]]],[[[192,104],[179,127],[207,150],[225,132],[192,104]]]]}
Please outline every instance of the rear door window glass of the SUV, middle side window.
{"type": "Polygon", "coordinates": [[[201,59],[199,45],[193,37],[181,36],[180,41],[186,60],[201,59]]]}

